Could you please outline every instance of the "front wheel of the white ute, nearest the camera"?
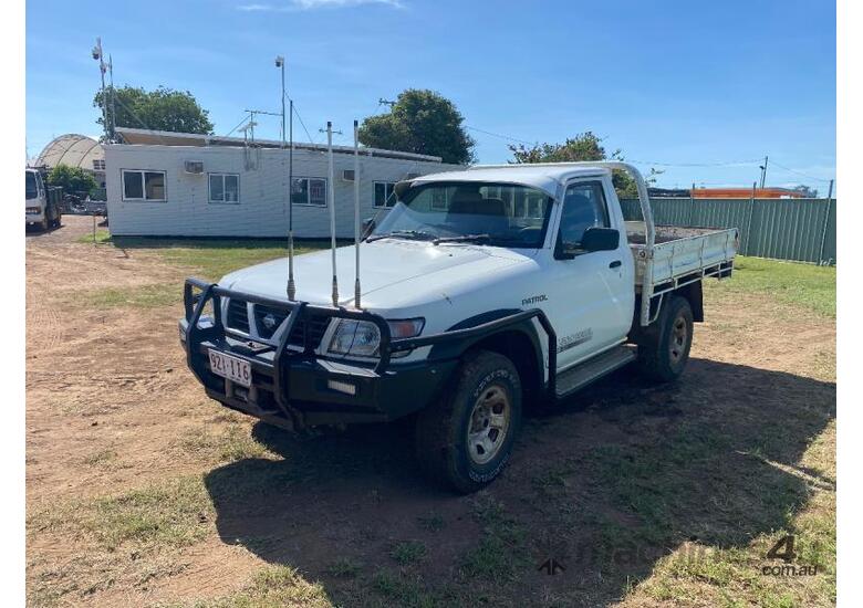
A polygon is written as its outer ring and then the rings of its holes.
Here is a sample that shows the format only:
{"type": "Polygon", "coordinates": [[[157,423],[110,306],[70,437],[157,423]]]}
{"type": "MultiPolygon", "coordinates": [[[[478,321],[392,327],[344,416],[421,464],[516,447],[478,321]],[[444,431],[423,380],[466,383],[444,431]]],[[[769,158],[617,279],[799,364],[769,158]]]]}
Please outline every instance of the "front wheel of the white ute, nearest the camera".
{"type": "Polygon", "coordinates": [[[451,389],[417,417],[419,464],[458,492],[476,492],[503,470],[520,426],[516,366],[498,353],[469,353],[451,389]]]}

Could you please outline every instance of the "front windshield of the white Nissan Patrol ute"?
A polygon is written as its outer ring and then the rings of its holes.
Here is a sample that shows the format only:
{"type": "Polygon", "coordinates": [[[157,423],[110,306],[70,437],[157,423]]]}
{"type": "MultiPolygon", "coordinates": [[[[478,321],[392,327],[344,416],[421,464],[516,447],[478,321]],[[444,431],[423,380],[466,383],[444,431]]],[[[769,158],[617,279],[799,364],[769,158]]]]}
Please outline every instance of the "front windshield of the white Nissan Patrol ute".
{"type": "Polygon", "coordinates": [[[542,190],[513,184],[424,184],[405,192],[370,240],[392,237],[537,249],[545,238],[552,202],[542,190]]]}

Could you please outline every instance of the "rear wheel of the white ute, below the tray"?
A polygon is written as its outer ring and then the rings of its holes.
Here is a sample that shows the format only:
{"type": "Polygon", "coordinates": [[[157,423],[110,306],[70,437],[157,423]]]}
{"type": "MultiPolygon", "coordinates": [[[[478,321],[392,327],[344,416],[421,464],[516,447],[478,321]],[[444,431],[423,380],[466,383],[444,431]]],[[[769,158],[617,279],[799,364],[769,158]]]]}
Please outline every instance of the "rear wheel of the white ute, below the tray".
{"type": "Polygon", "coordinates": [[[638,340],[638,366],[649,380],[676,380],[686,368],[692,345],[693,310],[685,297],[672,296],[638,340]]]}

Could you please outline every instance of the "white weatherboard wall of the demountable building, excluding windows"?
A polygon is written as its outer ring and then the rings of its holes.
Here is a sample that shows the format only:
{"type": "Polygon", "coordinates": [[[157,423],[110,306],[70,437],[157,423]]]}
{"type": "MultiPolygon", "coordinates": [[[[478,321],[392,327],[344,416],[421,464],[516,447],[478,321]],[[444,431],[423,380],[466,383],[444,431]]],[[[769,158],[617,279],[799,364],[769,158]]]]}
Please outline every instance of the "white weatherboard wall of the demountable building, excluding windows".
{"type": "MultiPolygon", "coordinates": [[[[246,169],[246,150],[228,146],[105,146],[110,230],[116,235],[285,237],[288,234],[288,151],[259,149],[258,169],[246,169]],[[204,172],[185,172],[186,160],[204,163],[204,172]],[[166,172],[166,202],[124,201],[123,169],[166,172]],[[208,174],[240,176],[237,203],[208,201],[208,174]]],[[[336,237],[354,235],[354,185],[342,171],[354,168],[350,154],[334,154],[336,237]]],[[[360,217],[385,210],[374,207],[374,182],[398,181],[408,174],[428,175],[459,169],[427,160],[360,156],[360,217]]],[[[327,178],[325,151],[294,150],[294,177],[327,178]]],[[[332,187],[329,185],[327,187],[332,187]]],[[[327,238],[330,208],[293,206],[294,235],[327,238]]]]}

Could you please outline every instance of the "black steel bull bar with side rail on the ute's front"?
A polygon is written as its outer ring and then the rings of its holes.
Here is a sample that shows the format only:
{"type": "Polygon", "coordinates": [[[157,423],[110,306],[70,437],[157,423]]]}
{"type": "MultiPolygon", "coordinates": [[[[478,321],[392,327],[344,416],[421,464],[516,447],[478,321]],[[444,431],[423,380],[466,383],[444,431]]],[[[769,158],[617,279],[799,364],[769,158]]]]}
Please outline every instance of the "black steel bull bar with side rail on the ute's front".
{"type": "MultiPolygon", "coordinates": [[[[466,329],[393,339],[389,325],[381,315],[313,306],[305,302],[289,303],[227,290],[199,279],[186,281],[184,306],[180,340],[189,369],[204,385],[207,395],[231,409],[281,427],[388,421],[418,411],[439,396],[458,365],[457,357],[436,356],[434,346],[476,339],[534,317],[549,335],[549,368],[552,370],[549,386],[553,390],[557,338],[539,310],[523,311],[466,329]],[[287,325],[278,333],[278,338],[250,340],[227,328],[221,301],[231,297],[289,312],[287,325]],[[211,315],[205,316],[208,304],[211,304],[211,315]],[[374,323],[381,332],[379,357],[374,363],[362,364],[321,355],[315,352],[308,333],[301,347],[289,344],[294,326],[312,314],[374,323]],[[433,346],[428,358],[413,363],[393,361],[394,353],[424,346],[433,346]],[[248,361],[252,370],[251,386],[240,386],[212,373],[208,354],[214,349],[248,361]]],[[[308,327],[308,323],[304,326],[308,327]]]]}

